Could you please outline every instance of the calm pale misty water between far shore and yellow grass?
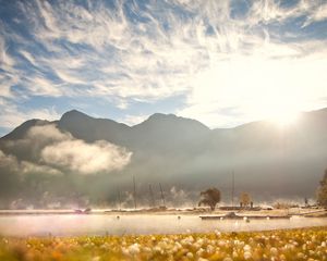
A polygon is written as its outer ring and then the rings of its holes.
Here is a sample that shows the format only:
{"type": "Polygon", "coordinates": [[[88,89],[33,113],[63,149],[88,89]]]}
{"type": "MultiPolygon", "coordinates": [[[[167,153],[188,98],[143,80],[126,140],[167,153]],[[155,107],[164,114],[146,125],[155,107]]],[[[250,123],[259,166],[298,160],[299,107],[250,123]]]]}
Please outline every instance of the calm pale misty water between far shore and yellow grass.
{"type": "Polygon", "coordinates": [[[238,231],[263,231],[327,225],[327,219],[293,216],[290,220],[211,220],[198,215],[8,215],[0,216],[0,235],[76,236],[124,234],[175,234],[238,231]]]}

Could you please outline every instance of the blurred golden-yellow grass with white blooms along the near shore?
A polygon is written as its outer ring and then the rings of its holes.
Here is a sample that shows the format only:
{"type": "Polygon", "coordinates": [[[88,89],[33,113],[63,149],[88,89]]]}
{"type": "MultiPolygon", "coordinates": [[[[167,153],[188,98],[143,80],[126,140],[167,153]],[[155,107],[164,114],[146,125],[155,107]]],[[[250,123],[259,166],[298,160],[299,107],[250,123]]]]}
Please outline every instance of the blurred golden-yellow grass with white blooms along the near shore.
{"type": "Polygon", "coordinates": [[[253,233],[0,238],[0,260],[327,260],[327,227],[253,233]]]}

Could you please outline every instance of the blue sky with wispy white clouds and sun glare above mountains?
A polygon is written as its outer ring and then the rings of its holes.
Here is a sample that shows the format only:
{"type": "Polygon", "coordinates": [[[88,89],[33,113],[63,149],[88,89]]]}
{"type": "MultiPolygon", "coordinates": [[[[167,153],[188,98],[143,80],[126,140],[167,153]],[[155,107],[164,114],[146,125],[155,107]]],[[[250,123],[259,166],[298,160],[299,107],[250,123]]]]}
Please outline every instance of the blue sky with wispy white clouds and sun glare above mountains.
{"type": "Polygon", "coordinates": [[[76,109],[233,127],[327,107],[326,0],[0,0],[0,136],[76,109]]]}

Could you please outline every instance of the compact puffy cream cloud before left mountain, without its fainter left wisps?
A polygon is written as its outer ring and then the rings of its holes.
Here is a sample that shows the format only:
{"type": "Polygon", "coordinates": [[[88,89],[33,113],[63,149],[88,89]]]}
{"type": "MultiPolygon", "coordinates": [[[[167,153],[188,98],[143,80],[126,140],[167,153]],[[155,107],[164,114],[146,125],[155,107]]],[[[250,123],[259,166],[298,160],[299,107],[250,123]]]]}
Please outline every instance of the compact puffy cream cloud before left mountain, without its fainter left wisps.
{"type": "Polygon", "coordinates": [[[25,139],[39,145],[46,164],[81,174],[122,170],[132,157],[132,152],[105,140],[87,144],[75,139],[52,124],[32,127],[25,139]]]}

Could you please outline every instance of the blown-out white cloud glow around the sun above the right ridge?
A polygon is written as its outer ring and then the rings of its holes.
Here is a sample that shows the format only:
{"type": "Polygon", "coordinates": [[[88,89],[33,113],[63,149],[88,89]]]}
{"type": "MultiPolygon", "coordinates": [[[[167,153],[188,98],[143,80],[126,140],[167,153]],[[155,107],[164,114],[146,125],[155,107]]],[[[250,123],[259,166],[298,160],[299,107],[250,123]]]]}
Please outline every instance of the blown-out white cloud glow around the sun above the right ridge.
{"type": "Polygon", "coordinates": [[[318,109],[325,105],[319,97],[327,97],[326,66],[320,55],[282,60],[239,57],[217,62],[197,75],[189,107],[178,114],[226,127],[318,109]],[[220,113],[229,108],[235,108],[237,114],[220,113]]]}

